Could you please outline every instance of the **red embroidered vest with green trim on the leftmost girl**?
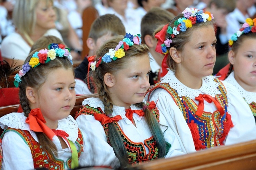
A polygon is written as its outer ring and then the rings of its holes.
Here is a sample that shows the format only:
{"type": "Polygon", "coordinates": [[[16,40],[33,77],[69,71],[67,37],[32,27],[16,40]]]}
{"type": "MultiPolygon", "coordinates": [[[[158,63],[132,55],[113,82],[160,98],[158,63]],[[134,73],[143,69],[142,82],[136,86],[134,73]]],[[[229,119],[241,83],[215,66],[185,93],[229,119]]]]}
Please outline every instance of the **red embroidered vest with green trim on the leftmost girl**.
{"type": "MultiPolygon", "coordinates": [[[[43,150],[41,144],[34,140],[28,130],[14,129],[8,127],[4,130],[1,138],[3,138],[3,135],[8,131],[16,132],[17,134],[19,134],[29,146],[33,158],[34,168],[47,168],[49,170],[65,169],[65,162],[61,159],[55,158],[53,155],[43,150]]],[[[75,143],[79,146],[79,150],[77,151],[77,153],[78,157],[80,157],[81,153],[84,150],[83,137],[80,129],[78,129],[78,138],[76,139],[75,143]]],[[[71,156],[67,161],[67,166],[69,169],[71,169],[71,156]]]]}

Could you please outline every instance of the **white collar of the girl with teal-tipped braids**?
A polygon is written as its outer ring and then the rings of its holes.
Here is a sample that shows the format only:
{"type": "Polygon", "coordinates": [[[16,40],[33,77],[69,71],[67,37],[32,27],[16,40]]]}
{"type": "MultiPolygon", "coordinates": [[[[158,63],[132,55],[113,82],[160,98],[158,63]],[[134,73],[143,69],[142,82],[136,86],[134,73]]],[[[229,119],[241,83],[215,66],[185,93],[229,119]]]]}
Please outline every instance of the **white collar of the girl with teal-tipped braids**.
{"type": "MultiPolygon", "coordinates": [[[[145,101],[143,101],[145,102],[145,101]]],[[[89,105],[90,107],[93,108],[101,108],[101,110],[104,112],[104,105],[102,101],[99,98],[96,97],[90,97],[86,98],[83,101],[83,106],[89,105]]],[[[130,106],[131,110],[140,110],[141,108],[136,107],[135,105],[131,104],[130,106]]],[[[105,113],[105,112],[104,112],[105,113]]],[[[113,116],[120,115],[122,119],[127,123],[131,124],[132,122],[125,116],[125,107],[120,107],[120,106],[115,106],[113,105],[113,116]]],[[[133,118],[136,118],[138,121],[141,121],[144,119],[143,117],[140,117],[138,114],[133,114],[133,118]]]]}

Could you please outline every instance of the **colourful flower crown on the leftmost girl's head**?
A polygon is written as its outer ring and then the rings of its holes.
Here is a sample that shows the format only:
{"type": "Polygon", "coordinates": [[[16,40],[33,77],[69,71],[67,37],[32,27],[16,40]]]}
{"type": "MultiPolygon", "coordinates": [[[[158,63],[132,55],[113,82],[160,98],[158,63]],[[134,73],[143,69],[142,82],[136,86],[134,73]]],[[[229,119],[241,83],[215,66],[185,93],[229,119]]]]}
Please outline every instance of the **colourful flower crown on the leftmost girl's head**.
{"type": "Polygon", "coordinates": [[[35,52],[29,62],[22,66],[22,69],[18,74],[14,76],[14,86],[18,87],[19,83],[22,81],[21,78],[33,67],[37,67],[40,64],[48,63],[51,60],[54,60],[56,57],[66,57],[72,62],[72,56],[70,54],[70,49],[65,48],[63,44],[49,44],[48,49],[42,49],[35,52]]]}

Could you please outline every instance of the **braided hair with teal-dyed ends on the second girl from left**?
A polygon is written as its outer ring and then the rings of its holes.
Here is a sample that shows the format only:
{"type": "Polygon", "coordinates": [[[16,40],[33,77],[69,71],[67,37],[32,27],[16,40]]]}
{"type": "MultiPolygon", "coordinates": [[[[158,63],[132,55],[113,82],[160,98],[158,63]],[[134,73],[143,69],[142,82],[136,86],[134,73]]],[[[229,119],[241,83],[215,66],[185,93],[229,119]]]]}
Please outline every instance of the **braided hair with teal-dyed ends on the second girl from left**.
{"type": "MultiPolygon", "coordinates": [[[[96,59],[101,56],[104,56],[105,53],[109,51],[111,48],[115,48],[116,45],[119,43],[119,41],[122,41],[124,36],[116,35],[112,39],[110,39],[108,42],[103,44],[96,52],[96,59]]],[[[145,44],[137,45],[134,44],[129,47],[129,50],[125,51],[125,56],[122,58],[119,58],[115,61],[111,61],[109,63],[103,62],[95,69],[95,71],[92,72],[93,79],[96,84],[97,92],[99,94],[99,98],[104,104],[104,112],[106,115],[109,115],[113,112],[113,104],[112,99],[110,98],[108,89],[106,87],[106,84],[104,83],[104,75],[106,73],[115,74],[120,69],[123,69],[127,63],[127,60],[132,59],[134,57],[141,57],[143,55],[148,55],[149,49],[145,44]]],[[[145,103],[137,103],[134,104],[137,107],[143,108],[145,106],[145,103]]],[[[151,130],[151,133],[153,134],[157,146],[158,146],[158,157],[164,157],[165,156],[165,139],[163,137],[162,131],[160,129],[160,126],[155,119],[154,115],[152,114],[150,109],[145,109],[145,120],[151,130]]],[[[122,138],[117,131],[114,123],[108,123],[109,125],[109,139],[111,142],[111,145],[113,146],[114,152],[116,154],[116,157],[119,159],[120,163],[123,166],[126,166],[128,164],[128,155],[125,149],[125,145],[122,141],[122,138]]]]}

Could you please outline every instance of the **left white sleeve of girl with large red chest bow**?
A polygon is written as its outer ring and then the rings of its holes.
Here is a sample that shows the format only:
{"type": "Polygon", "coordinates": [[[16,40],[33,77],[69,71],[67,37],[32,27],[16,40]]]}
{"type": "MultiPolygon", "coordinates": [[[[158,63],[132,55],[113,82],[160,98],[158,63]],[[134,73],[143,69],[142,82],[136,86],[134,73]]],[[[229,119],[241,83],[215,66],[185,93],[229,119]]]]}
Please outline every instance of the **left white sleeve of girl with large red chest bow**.
{"type": "Polygon", "coordinates": [[[154,101],[159,110],[161,125],[168,126],[163,135],[172,145],[166,157],[180,155],[179,152],[196,152],[190,129],[172,96],[164,89],[152,92],[149,101],[154,101]]]}

